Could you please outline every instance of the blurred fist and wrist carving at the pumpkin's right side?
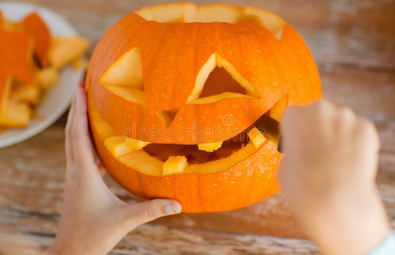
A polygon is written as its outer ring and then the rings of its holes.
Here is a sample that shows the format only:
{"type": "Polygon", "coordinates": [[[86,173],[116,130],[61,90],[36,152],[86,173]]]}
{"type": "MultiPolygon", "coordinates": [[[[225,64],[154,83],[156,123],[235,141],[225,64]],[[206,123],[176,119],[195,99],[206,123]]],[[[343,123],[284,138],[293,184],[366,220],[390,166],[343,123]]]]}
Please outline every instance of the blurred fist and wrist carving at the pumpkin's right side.
{"type": "Polygon", "coordinates": [[[377,196],[373,124],[327,101],[290,107],[282,121],[282,193],[324,254],[366,254],[389,227],[377,196]]]}

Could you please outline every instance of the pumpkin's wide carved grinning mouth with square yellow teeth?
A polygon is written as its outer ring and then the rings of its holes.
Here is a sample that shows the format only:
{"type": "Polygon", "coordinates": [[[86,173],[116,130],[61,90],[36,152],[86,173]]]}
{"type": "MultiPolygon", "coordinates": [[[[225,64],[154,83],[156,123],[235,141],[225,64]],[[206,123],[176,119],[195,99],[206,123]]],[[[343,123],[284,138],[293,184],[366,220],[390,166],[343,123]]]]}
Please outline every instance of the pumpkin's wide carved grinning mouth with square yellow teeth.
{"type": "MultiPolygon", "coordinates": [[[[272,117],[286,107],[288,96],[281,98],[268,112],[272,117]]],[[[108,152],[120,163],[140,172],[167,176],[187,173],[216,173],[247,159],[268,139],[256,128],[248,127],[231,139],[209,144],[150,143],[119,136],[99,115],[89,100],[92,128],[100,135],[108,152]],[[214,149],[215,148],[215,149],[214,149]]]]}

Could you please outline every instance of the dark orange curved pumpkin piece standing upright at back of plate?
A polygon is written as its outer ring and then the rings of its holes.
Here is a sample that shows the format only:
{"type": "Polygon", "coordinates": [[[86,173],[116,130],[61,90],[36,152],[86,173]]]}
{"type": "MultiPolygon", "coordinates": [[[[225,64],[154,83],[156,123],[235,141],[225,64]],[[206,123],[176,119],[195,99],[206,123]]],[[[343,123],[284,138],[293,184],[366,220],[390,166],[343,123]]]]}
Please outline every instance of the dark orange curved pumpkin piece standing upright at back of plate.
{"type": "Polygon", "coordinates": [[[45,67],[47,65],[47,54],[51,38],[48,27],[36,12],[26,16],[22,22],[26,27],[26,31],[35,40],[34,53],[37,60],[42,67],[45,67]]]}

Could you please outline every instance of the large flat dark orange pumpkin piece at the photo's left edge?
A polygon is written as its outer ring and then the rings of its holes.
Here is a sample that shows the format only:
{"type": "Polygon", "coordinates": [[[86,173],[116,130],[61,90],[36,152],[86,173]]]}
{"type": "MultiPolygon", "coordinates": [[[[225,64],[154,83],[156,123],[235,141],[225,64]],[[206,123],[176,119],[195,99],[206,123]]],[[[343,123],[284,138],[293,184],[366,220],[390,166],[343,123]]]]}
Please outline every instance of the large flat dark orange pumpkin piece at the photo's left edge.
{"type": "Polygon", "coordinates": [[[27,33],[0,31],[0,70],[23,83],[33,83],[33,38],[27,33]]]}

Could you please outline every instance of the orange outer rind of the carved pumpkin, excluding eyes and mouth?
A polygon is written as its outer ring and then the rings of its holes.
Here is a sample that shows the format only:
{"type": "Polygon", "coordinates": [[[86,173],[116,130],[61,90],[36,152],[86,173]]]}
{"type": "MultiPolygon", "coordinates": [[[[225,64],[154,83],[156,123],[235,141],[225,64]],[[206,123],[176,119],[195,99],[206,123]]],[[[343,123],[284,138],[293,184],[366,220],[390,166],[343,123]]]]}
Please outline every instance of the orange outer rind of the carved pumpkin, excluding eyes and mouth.
{"type": "MultiPolygon", "coordinates": [[[[274,14],[252,8],[254,13],[264,12],[278,20],[282,32],[279,40],[273,26],[268,29],[259,24],[258,15],[245,15],[248,8],[252,7],[225,4],[197,7],[192,3],[143,8],[119,20],[96,46],[85,81],[92,135],[109,174],[131,193],[142,199],[175,199],[181,203],[183,212],[198,213],[241,208],[279,190],[276,170],[281,154],[272,142],[264,143],[251,155],[225,169],[184,171],[171,176],[130,167],[104,146],[109,135],[122,135],[132,124],[135,130],[157,128],[161,134],[166,128],[175,130],[171,142],[159,135],[155,143],[220,142],[250,127],[285,95],[288,96],[287,106],[305,105],[321,98],[316,64],[300,35],[274,14]],[[173,20],[163,18],[166,13],[187,13],[187,9],[196,11],[191,12],[196,17],[236,15],[237,21],[233,24],[203,23],[191,19],[185,23],[189,16],[194,16],[189,12],[180,17],[176,15],[178,18],[173,20]],[[223,15],[211,15],[213,9],[222,11],[223,15]],[[155,15],[157,17],[153,17],[155,15]],[[141,58],[144,103],[129,100],[102,83],[104,74],[125,53],[136,48],[141,58]],[[197,77],[213,54],[230,63],[253,87],[256,96],[190,103],[197,77]],[[169,109],[177,109],[177,113],[170,125],[166,125],[157,113],[169,109]],[[232,123],[224,123],[227,115],[233,117],[232,123]],[[103,125],[99,127],[97,123],[104,123],[104,129],[109,131],[104,134],[103,125]],[[199,131],[213,125],[222,130],[220,139],[211,133],[200,135],[197,132],[193,139],[179,135],[182,128],[199,131]]],[[[197,21],[201,20],[197,18],[197,21]]],[[[133,139],[153,142],[147,132],[129,135],[133,139]]]]}

